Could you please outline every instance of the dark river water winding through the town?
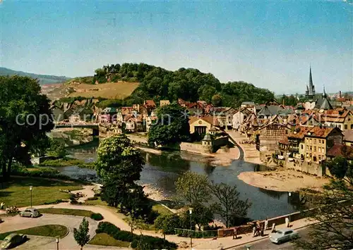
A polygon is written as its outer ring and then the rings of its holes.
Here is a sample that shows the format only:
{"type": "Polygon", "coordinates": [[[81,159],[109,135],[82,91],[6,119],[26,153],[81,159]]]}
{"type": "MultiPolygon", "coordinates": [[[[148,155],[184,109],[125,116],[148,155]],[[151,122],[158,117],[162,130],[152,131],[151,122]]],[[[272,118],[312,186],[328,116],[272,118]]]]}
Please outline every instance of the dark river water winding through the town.
{"type": "MultiPolygon", "coordinates": [[[[84,147],[84,149],[71,149],[70,153],[71,156],[87,162],[95,161],[96,148],[97,144],[93,143],[84,147]]],[[[208,179],[215,183],[225,182],[229,185],[237,185],[241,199],[249,199],[252,203],[248,216],[253,220],[285,215],[300,209],[299,194],[292,193],[289,201],[287,192],[275,192],[253,187],[237,178],[237,175],[244,171],[263,170],[262,166],[241,160],[233,161],[232,165],[229,166],[213,166],[209,163],[210,158],[179,151],[164,152],[161,155],[145,152],[142,154],[146,163],[141,173],[140,184],[150,184],[162,189],[166,196],[175,194],[174,182],[179,175],[191,170],[207,175],[208,179]]],[[[62,174],[73,178],[97,181],[95,170],[76,166],[57,169],[62,174]]]]}

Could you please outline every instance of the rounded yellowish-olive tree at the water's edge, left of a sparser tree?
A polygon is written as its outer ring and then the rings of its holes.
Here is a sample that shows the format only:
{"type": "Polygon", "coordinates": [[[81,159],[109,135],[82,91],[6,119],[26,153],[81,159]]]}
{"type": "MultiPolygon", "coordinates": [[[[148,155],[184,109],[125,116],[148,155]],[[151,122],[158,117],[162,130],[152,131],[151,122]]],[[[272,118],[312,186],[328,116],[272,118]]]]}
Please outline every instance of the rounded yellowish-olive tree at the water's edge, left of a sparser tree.
{"type": "Polygon", "coordinates": [[[210,182],[205,175],[191,171],[185,172],[175,182],[177,196],[189,205],[202,204],[211,199],[210,182]]]}

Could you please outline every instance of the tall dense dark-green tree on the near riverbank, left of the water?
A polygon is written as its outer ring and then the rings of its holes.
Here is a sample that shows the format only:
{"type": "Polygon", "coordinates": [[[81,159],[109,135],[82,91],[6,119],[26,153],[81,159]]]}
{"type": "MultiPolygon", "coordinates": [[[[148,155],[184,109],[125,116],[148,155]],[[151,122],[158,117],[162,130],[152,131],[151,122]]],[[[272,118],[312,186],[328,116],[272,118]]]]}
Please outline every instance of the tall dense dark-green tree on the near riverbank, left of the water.
{"type": "Polygon", "coordinates": [[[140,151],[126,135],[104,139],[97,149],[95,166],[103,183],[102,200],[107,201],[109,206],[120,206],[123,213],[148,218],[152,206],[143,188],[135,184],[136,180],[140,180],[143,164],[140,151]]]}

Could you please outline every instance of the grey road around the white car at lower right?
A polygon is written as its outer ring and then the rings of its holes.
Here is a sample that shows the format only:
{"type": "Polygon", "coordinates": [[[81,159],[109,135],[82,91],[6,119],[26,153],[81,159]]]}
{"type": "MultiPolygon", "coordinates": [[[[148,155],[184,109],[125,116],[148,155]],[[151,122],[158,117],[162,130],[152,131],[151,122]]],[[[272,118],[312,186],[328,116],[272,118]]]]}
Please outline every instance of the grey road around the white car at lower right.
{"type": "MultiPolygon", "coordinates": [[[[306,239],[306,237],[308,237],[308,233],[310,232],[310,227],[305,227],[303,229],[299,229],[297,230],[297,232],[299,232],[299,235],[301,237],[301,239],[306,239]]],[[[270,242],[270,239],[263,239],[261,241],[258,242],[253,242],[250,243],[249,245],[251,245],[251,250],[254,249],[271,249],[271,250],[275,250],[275,249],[298,249],[293,242],[285,242],[283,244],[273,244],[272,242],[270,242]]],[[[238,246],[235,249],[241,249],[244,250],[246,249],[245,245],[243,246],[238,246]]]]}

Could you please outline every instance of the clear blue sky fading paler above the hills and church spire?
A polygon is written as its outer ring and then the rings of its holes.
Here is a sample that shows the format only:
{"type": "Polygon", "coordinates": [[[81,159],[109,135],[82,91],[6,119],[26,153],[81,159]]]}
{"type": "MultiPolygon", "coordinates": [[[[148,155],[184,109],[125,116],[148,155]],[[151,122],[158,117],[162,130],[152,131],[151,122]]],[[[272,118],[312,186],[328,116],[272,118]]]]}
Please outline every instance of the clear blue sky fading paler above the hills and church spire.
{"type": "Polygon", "coordinates": [[[93,75],[112,63],[198,68],[275,94],[353,91],[353,4],[0,0],[0,65],[93,75]]]}

